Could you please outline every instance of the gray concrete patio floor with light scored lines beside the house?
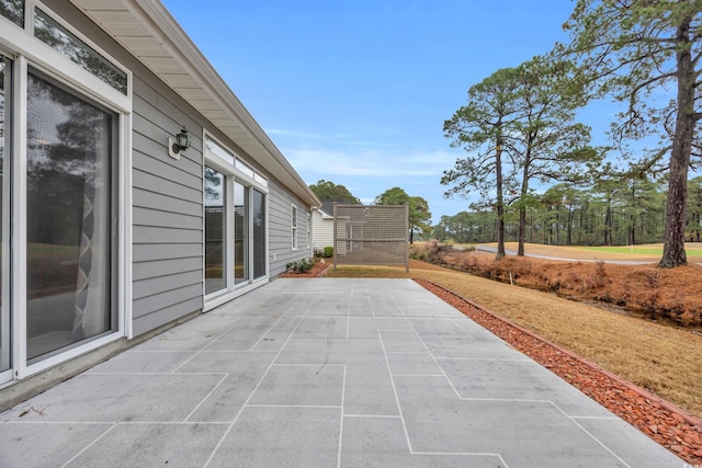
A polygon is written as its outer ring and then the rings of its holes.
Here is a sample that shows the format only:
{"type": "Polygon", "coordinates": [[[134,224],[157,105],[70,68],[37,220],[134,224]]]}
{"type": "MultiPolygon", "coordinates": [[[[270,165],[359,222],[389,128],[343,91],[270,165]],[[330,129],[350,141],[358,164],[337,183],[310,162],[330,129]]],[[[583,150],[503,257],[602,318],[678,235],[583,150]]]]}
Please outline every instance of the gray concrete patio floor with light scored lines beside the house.
{"type": "Polygon", "coordinates": [[[0,467],[682,467],[409,279],[275,279],[0,413],[0,467]]]}

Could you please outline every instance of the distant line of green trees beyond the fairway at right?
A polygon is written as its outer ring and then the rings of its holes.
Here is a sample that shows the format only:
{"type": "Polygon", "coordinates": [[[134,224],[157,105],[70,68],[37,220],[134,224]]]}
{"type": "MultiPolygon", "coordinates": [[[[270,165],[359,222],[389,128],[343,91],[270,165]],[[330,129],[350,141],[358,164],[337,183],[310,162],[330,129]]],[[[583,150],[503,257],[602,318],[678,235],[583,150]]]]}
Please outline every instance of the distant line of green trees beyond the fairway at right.
{"type": "MultiPolygon", "coordinates": [[[[666,218],[665,181],[610,180],[593,189],[558,184],[532,195],[525,206],[525,241],[551,246],[631,246],[661,242],[666,218]]],[[[702,176],[688,183],[686,240],[702,241],[702,176]]],[[[442,216],[431,237],[460,243],[495,242],[497,210],[442,216]]],[[[505,240],[517,242],[519,210],[505,214],[505,240]]]]}

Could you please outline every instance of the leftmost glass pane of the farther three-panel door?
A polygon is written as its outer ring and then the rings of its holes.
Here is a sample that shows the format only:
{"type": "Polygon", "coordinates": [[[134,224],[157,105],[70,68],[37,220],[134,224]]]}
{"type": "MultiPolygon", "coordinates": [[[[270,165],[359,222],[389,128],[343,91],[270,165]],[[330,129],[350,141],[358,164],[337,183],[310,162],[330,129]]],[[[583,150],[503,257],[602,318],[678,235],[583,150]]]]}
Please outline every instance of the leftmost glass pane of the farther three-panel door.
{"type": "Polygon", "coordinates": [[[205,294],[227,287],[226,176],[205,167],[205,294]]]}

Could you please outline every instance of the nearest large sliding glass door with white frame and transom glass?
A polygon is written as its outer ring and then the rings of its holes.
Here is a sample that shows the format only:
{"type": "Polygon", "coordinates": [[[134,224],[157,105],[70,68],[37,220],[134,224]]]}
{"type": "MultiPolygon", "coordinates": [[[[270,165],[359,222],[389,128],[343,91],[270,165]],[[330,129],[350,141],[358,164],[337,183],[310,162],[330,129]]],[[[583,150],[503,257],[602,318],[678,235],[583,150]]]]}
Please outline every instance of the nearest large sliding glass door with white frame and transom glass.
{"type": "Polygon", "coordinates": [[[43,2],[0,0],[0,23],[3,386],[133,331],[133,96],[43,2]]]}

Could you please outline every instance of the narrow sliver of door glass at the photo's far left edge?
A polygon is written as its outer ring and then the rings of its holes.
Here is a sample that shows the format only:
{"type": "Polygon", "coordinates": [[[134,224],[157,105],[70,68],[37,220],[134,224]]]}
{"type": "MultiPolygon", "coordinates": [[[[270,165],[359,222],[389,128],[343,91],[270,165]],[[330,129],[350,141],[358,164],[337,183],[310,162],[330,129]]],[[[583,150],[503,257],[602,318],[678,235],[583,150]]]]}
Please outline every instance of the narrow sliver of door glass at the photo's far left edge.
{"type": "Polygon", "coordinates": [[[12,62],[0,55],[0,372],[10,368],[10,78],[12,62]]]}

